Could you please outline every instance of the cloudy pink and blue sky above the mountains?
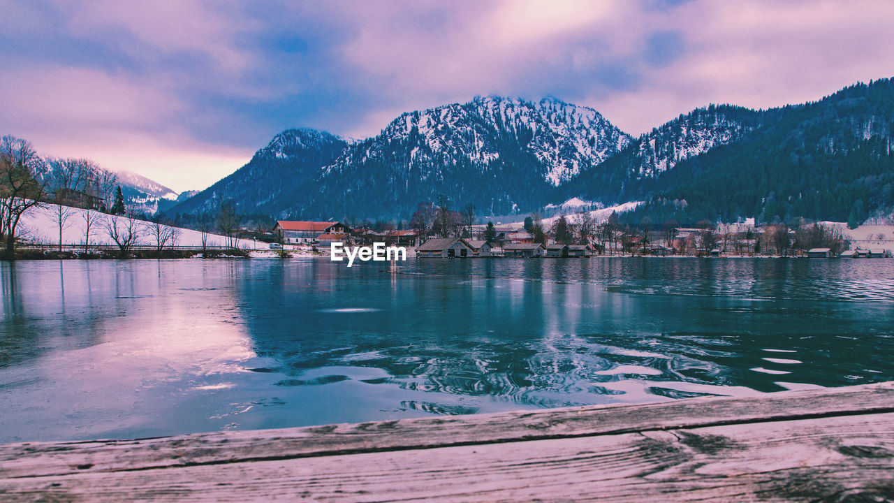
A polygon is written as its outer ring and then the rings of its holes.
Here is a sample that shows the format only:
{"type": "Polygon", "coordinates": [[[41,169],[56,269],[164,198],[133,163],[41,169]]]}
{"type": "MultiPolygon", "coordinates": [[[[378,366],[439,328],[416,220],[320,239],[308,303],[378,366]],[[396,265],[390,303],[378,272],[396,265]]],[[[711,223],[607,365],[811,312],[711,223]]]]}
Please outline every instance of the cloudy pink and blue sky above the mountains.
{"type": "Polygon", "coordinates": [[[0,0],[0,133],[174,190],[297,126],[363,137],[478,95],[637,134],[894,76],[894,2],[0,0]]]}

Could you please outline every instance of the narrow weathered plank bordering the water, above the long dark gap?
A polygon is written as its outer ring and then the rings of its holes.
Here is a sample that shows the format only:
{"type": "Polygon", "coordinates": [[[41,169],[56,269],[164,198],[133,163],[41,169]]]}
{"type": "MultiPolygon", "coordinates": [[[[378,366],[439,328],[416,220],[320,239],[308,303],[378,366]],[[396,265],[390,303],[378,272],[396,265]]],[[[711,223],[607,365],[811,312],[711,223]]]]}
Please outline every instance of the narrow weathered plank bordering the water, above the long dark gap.
{"type": "Polygon", "coordinates": [[[891,411],[894,383],[880,383],[753,397],[216,431],[161,439],[19,443],[0,446],[0,477],[220,465],[891,411]]]}

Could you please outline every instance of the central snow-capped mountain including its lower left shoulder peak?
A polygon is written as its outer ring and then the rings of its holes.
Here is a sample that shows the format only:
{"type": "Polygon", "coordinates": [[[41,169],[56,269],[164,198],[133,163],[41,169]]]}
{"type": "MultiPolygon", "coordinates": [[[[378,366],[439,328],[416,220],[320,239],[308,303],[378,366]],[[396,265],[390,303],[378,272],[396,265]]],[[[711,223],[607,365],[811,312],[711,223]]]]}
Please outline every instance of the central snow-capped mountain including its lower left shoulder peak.
{"type": "Polygon", "coordinates": [[[475,98],[402,114],[350,144],[315,130],[282,132],[249,164],[168,214],[226,197],[247,213],[275,217],[402,217],[441,195],[456,207],[511,212],[548,204],[561,183],[629,141],[592,108],[554,98],[475,98]]]}

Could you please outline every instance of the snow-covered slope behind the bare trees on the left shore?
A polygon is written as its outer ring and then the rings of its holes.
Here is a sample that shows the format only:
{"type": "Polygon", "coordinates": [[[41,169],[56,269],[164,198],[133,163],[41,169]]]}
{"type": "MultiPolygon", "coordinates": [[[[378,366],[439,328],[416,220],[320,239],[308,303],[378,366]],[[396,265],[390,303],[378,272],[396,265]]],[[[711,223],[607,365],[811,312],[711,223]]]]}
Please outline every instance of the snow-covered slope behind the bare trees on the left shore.
{"type": "MultiPolygon", "coordinates": [[[[110,218],[119,220],[119,227],[126,221],[124,217],[115,217],[98,213],[92,209],[80,209],[71,207],[62,207],[68,213],[63,226],[62,242],[63,246],[84,245],[85,234],[87,230],[87,216],[97,217],[97,221],[90,226],[90,245],[111,245],[114,246],[114,240],[109,236],[105,222],[110,218]]],[[[46,204],[40,208],[32,208],[21,216],[19,227],[16,229],[21,239],[29,243],[41,244],[58,244],[59,243],[59,224],[58,209],[55,204],[46,204]]],[[[140,235],[137,239],[137,245],[155,245],[153,235],[149,233],[149,222],[138,221],[140,227],[140,235]]],[[[178,231],[178,237],[175,246],[201,246],[201,233],[192,229],[184,229],[181,227],[174,228],[178,231]]],[[[269,245],[259,241],[246,239],[236,240],[236,246],[245,250],[266,250],[269,245]]],[[[168,246],[171,243],[167,244],[168,246]]],[[[219,234],[208,234],[207,246],[226,246],[226,238],[219,234]]]]}

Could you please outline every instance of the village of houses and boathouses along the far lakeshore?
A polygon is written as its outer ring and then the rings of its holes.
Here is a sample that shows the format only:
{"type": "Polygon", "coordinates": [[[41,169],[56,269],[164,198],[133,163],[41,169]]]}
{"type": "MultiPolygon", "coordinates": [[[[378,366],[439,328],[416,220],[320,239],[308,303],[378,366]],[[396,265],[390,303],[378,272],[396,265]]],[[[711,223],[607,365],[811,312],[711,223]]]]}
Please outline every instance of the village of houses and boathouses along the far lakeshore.
{"type": "Polygon", "coordinates": [[[544,229],[538,218],[510,225],[488,223],[434,229],[374,230],[335,221],[278,220],[272,249],[324,252],[332,243],[404,246],[417,257],[432,258],[585,258],[641,257],[806,257],[888,258],[894,243],[885,234],[850,239],[833,225],[805,224],[797,228],[770,226],[620,226],[608,219],[592,230],[572,218],[559,217],[544,229]],[[445,235],[446,234],[446,235],[445,235]]]}

